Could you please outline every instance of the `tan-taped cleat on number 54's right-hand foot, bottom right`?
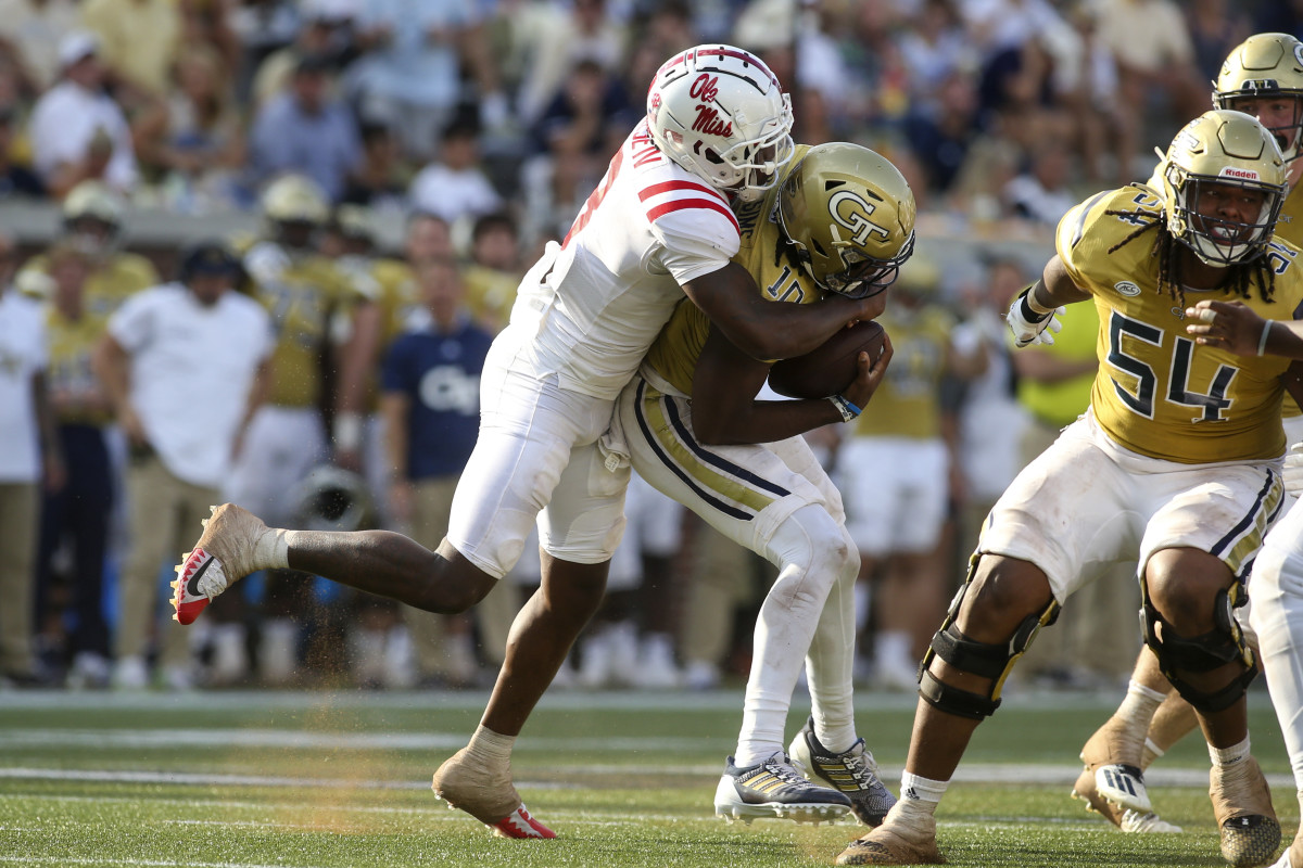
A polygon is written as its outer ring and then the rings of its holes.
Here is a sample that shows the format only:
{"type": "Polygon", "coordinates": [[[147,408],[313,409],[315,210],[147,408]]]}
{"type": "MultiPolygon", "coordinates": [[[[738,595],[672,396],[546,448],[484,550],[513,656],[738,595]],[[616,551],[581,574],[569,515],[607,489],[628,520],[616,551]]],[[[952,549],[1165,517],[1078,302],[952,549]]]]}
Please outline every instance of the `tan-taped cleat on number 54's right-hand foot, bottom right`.
{"type": "MultiPolygon", "coordinates": [[[[1227,766],[1214,765],[1208,774],[1208,796],[1221,832],[1221,851],[1235,868],[1270,864],[1281,845],[1281,824],[1272,807],[1272,793],[1263,769],[1252,756],[1247,765],[1226,774],[1227,766]]],[[[1237,764],[1239,765],[1239,764],[1237,764]]]]}

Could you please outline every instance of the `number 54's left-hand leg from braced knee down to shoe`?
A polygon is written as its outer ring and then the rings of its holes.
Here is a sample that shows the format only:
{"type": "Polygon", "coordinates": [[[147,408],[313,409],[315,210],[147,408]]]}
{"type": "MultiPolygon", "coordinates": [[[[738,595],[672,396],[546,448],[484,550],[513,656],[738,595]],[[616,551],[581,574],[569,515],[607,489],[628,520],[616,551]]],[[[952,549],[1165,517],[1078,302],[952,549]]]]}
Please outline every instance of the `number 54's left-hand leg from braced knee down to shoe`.
{"type": "Polygon", "coordinates": [[[923,660],[900,782],[900,800],[882,825],[852,841],[839,865],[941,863],[936,808],[977,725],[999,708],[999,692],[1014,664],[1058,603],[1035,565],[1001,556],[975,556],[969,575],[950,604],[923,660]]]}

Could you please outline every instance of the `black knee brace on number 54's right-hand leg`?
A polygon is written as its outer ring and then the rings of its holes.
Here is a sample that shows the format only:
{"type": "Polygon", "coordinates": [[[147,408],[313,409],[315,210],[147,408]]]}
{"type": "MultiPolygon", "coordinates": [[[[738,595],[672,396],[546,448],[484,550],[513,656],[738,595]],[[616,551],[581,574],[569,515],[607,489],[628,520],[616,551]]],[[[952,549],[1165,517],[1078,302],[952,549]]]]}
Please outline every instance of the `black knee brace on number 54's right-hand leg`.
{"type": "Polygon", "coordinates": [[[1217,592],[1213,603],[1214,627],[1199,636],[1183,636],[1149,601],[1148,587],[1140,583],[1144,606],[1140,626],[1144,642],[1158,658],[1158,669],[1177,688],[1182,699],[1200,712],[1220,712],[1230,708],[1257,677],[1257,660],[1244,642],[1244,634],[1235,622],[1234,609],[1243,603],[1243,590],[1237,582],[1217,592]],[[1205,673],[1239,661],[1244,671],[1220,690],[1200,690],[1182,678],[1178,671],[1205,673]]]}

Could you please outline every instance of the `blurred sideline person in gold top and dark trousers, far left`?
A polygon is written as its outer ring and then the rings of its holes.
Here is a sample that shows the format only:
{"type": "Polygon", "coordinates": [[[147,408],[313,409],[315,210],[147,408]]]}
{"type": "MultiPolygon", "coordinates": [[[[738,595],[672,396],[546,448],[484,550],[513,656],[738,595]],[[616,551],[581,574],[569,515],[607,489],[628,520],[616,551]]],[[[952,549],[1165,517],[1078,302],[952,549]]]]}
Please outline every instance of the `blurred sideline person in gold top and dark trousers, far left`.
{"type": "Polygon", "coordinates": [[[109,518],[115,506],[116,468],[107,427],[113,407],[103,384],[91,372],[91,355],[104,336],[107,314],[86,303],[91,263],[66,241],[46,256],[52,292],[46,306],[50,338],[47,384],[59,444],[68,467],[68,484],[47,491],[40,509],[36,558],[38,623],[55,612],[56,576],[70,600],[72,618],[63,618],[69,635],[60,638],[60,666],[72,668],[72,687],[108,686],[109,631],[104,622],[104,570],[109,518]],[[59,557],[65,552],[70,557],[59,557]],[[68,566],[56,569],[55,562],[68,566]],[[59,574],[63,573],[60,576],[59,574]]]}

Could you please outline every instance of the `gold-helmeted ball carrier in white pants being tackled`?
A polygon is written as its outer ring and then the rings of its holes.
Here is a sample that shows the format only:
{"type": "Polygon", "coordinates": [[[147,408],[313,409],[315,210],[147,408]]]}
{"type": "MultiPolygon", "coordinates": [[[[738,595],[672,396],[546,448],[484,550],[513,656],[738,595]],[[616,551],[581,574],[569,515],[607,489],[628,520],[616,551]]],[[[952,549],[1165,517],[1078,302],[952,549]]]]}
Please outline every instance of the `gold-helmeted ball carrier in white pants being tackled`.
{"type": "MultiPolygon", "coordinates": [[[[856,144],[797,148],[787,178],[737,217],[734,262],[775,303],[881,294],[913,250],[908,183],[856,144]]],[[[855,733],[859,556],[842,498],[800,437],[857,416],[889,359],[886,350],[870,367],[861,354],[859,376],[827,400],[757,401],[770,366],[680,305],[620,394],[614,431],[638,475],[779,569],[756,625],[737,750],[715,790],[715,812],[730,821],[818,822],[850,808],[874,825],[895,802],[855,733]],[[814,713],[788,756],[783,726],[807,652],[814,713]]]]}

